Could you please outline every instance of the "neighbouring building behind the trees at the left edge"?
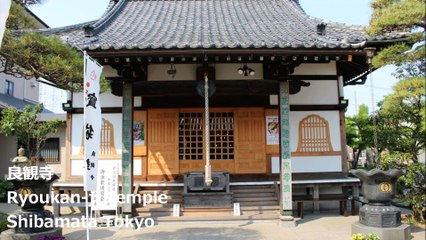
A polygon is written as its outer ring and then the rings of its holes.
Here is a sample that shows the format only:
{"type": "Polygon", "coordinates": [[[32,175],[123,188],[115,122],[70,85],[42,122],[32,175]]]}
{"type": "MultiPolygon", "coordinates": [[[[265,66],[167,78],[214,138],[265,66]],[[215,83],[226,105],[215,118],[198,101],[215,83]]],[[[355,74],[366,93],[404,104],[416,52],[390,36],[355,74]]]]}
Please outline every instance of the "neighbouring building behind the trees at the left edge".
{"type": "MultiPolygon", "coordinates": [[[[26,14],[31,16],[36,22],[36,28],[48,28],[48,26],[34,15],[29,9],[26,14]]],[[[40,121],[53,118],[62,119],[65,122],[65,114],[62,110],[62,102],[66,102],[66,91],[52,87],[35,78],[24,79],[14,75],[4,73],[0,68],[0,117],[4,108],[12,107],[22,110],[26,105],[34,106],[42,103],[44,110],[40,116],[40,121]]],[[[46,142],[43,154],[50,155],[49,161],[60,163],[64,159],[65,148],[65,125],[61,126],[56,134],[50,136],[46,142]],[[48,150],[51,149],[51,150],[48,150]],[[57,149],[57,150],[55,150],[57,149]],[[62,156],[61,156],[62,155],[62,156]]],[[[6,137],[0,134],[0,176],[3,177],[11,166],[10,161],[17,155],[17,140],[14,137],[6,137]]],[[[59,164],[52,164],[57,172],[59,164]]]]}

